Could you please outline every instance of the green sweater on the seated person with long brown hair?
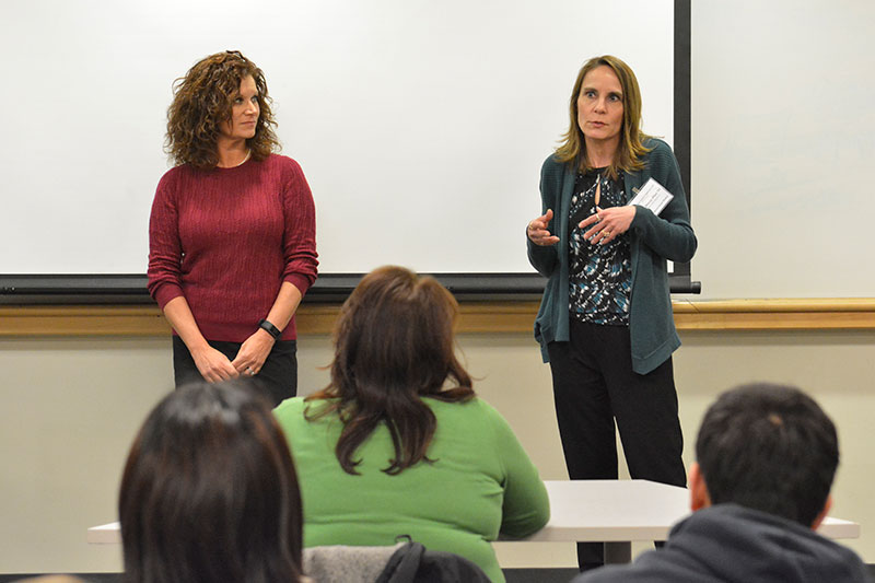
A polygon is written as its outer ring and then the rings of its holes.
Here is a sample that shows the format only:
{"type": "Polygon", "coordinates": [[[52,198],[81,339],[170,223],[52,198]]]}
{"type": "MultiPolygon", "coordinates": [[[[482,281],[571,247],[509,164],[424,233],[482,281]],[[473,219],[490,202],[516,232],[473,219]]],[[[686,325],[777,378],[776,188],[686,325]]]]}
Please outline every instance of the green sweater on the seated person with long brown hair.
{"type": "MultiPolygon", "coordinates": [[[[283,401],[275,415],[294,457],[304,505],[304,546],[394,545],[410,535],[428,549],[460,555],[492,581],[504,581],[490,541],[518,538],[549,518],[547,490],[508,422],[485,401],[431,398],[438,427],[429,446],[433,463],[396,476],[385,425],[355,452],[361,475],[345,473],[335,445],[342,428],[336,415],[304,419],[307,404],[283,401]]],[[[311,401],[318,407],[318,401],[311,401]]]]}

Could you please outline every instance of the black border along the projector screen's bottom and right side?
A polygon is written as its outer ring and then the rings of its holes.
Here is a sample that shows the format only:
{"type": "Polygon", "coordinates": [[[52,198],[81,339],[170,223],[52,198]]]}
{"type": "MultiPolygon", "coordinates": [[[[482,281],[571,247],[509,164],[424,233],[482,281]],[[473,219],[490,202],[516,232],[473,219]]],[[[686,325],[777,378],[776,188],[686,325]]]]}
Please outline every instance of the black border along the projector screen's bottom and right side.
{"type": "MultiPolygon", "coordinates": [[[[675,154],[690,205],[690,4],[675,0],[675,154]]],[[[690,205],[691,209],[691,205],[690,205]]],[[[521,253],[522,242],[521,242],[521,253]]],[[[434,273],[459,300],[534,300],[544,291],[537,273],[434,273]]],[[[324,273],[305,302],[339,302],[349,295],[361,273],[324,273]]],[[[672,293],[699,293],[690,264],[675,264],[672,293]]],[[[151,304],[144,275],[0,275],[0,304],[151,304]]]]}

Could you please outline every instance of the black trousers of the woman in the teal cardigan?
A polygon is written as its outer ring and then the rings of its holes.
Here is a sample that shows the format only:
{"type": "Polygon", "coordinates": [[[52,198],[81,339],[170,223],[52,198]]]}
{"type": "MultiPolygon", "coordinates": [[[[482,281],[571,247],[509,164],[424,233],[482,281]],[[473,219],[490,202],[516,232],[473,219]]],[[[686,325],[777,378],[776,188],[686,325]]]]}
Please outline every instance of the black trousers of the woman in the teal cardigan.
{"type": "MultiPolygon", "coordinates": [[[[570,333],[547,347],[569,478],[617,479],[616,420],[632,478],[686,486],[672,359],[637,374],[628,327],[572,316],[570,333]]],[[[603,564],[604,545],[579,543],[578,561],[581,570],[603,564]]]]}

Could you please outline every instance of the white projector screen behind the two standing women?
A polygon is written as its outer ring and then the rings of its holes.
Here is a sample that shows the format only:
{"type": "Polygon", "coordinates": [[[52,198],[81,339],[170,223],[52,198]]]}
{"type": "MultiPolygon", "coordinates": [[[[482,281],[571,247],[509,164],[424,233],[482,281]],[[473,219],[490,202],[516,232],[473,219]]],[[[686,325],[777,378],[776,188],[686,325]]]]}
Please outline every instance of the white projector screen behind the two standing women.
{"type": "Polygon", "coordinates": [[[144,273],[173,81],[240,49],[316,202],[323,273],[530,272],[581,65],[635,71],[673,142],[673,1],[5,3],[2,273],[144,273]]]}

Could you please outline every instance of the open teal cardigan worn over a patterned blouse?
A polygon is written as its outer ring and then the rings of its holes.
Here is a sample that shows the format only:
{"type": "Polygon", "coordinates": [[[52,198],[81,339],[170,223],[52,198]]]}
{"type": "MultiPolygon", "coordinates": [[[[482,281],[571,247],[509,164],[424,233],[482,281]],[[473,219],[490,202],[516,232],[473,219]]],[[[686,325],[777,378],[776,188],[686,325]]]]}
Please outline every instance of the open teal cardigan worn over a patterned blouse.
{"type": "MultiPolygon", "coordinates": [[[[680,346],[672,312],[666,260],[689,261],[697,246],[675,154],[667,143],[655,138],[646,140],[644,145],[652,149],[644,156],[644,168],[622,173],[627,200],[651,177],[675,197],[660,217],[643,207],[635,207],[635,217],[623,235],[630,237],[632,292],[629,335],[632,370],[638,374],[653,371],[680,346]]],[[[544,162],[540,171],[541,212],[553,210],[549,229],[559,236],[559,243],[541,247],[527,238],[529,263],[540,275],[549,278],[535,319],[535,338],[540,342],[544,362],[549,362],[549,342],[569,340],[568,220],[575,178],[573,164],[559,163],[552,155],[544,162]]]]}

